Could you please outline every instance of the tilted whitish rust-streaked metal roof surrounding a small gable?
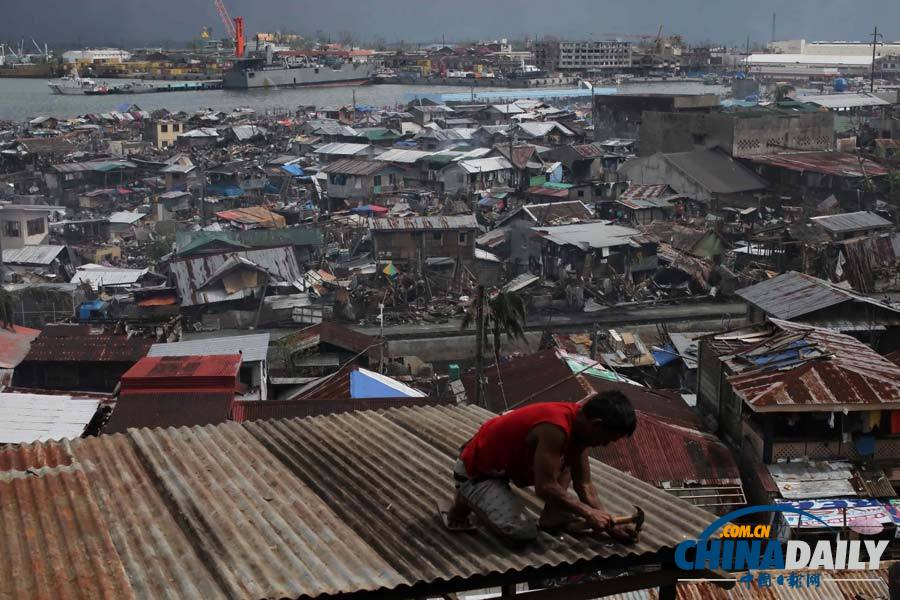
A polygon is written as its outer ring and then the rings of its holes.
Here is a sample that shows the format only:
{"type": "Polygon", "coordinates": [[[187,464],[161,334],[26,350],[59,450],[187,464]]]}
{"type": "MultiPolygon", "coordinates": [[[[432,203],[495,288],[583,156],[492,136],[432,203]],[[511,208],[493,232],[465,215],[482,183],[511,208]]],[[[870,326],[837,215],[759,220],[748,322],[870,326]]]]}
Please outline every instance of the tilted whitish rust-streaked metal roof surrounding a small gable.
{"type": "Polygon", "coordinates": [[[264,248],[260,250],[247,250],[244,252],[230,252],[225,254],[209,254],[196,256],[183,260],[173,261],[170,265],[172,275],[175,277],[175,285],[178,288],[178,297],[181,306],[195,306],[214,302],[226,302],[239,300],[246,297],[252,290],[238,290],[234,294],[226,294],[224,291],[210,289],[200,290],[200,286],[209,280],[210,275],[221,268],[225,262],[239,256],[258,265],[270,274],[277,275],[280,281],[294,282],[303,274],[297,265],[297,257],[291,246],[264,248]]]}

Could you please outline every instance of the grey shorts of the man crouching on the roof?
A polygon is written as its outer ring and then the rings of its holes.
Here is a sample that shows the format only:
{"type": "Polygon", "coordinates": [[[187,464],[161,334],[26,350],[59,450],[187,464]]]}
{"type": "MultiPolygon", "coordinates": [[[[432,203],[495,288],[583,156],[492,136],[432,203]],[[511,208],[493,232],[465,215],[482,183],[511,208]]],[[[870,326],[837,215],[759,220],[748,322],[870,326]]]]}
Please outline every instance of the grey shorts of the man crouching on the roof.
{"type": "Polygon", "coordinates": [[[502,478],[472,480],[461,459],[453,466],[456,489],[469,508],[497,533],[516,543],[537,538],[537,526],[525,514],[525,507],[502,478]]]}

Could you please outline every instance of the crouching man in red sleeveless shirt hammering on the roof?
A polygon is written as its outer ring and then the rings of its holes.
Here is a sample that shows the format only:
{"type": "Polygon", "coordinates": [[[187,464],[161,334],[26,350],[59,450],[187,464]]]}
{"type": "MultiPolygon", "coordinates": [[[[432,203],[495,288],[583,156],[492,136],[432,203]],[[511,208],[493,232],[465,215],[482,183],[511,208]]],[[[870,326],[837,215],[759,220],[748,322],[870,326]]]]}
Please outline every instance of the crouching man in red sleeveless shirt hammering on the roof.
{"type": "Polygon", "coordinates": [[[451,527],[475,512],[496,533],[528,543],[538,528],[548,532],[593,530],[620,541],[634,539],[631,526],[614,526],[591,483],[588,449],[634,433],[637,420],[625,394],[606,391],[578,402],[547,402],[517,408],[486,421],[466,442],[453,468],[456,499],[451,527]],[[544,510],[535,525],[510,488],[533,485],[544,510]],[[569,493],[569,485],[577,497],[569,493]]]}

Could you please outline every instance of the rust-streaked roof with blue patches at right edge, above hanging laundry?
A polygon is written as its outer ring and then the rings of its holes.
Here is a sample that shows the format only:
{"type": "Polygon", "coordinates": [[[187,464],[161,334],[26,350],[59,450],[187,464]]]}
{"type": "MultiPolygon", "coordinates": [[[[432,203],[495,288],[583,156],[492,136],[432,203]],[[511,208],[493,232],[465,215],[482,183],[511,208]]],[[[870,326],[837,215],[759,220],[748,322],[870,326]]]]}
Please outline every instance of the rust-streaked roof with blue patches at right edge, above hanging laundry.
{"type": "Polygon", "coordinates": [[[900,367],[849,335],[771,320],[780,331],[727,359],[728,383],[754,411],[900,406],[900,367]]]}

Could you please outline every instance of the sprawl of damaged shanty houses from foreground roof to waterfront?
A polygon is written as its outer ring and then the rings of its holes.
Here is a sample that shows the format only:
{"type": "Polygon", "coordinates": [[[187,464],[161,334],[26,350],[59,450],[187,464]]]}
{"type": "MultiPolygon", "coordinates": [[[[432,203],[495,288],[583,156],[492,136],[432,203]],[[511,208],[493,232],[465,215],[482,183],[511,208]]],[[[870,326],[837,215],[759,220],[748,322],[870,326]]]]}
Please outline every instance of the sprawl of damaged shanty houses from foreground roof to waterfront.
{"type": "MultiPolygon", "coordinates": [[[[562,69],[571,51],[541,56],[562,69]]],[[[837,108],[854,95],[10,124],[0,499],[21,518],[3,537],[11,572],[54,566],[0,589],[733,598],[676,586],[668,562],[717,515],[789,504],[833,529],[765,521],[783,539],[894,540],[885,123],[900,109],[848,125],[837,108]],[[645,510],[636,545],[541,534],[510,549],[440,525],[480,423],[606,390],[638,429],[592,465],[611,512],[645,510]]]]}

